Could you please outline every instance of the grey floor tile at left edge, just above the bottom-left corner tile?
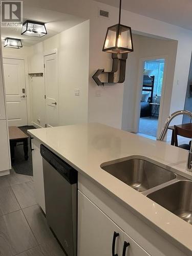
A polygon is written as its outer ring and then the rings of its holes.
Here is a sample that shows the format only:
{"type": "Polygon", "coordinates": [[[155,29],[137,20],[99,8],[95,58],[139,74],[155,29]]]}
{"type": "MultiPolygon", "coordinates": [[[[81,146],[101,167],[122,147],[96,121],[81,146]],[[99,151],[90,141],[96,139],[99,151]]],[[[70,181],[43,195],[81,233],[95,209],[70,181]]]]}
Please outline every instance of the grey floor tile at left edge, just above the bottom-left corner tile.
{"type": "Polygon", "coordinates": [[[19,210],[20,206],[11,187],[0,188],[0,216],[19,210]]]}

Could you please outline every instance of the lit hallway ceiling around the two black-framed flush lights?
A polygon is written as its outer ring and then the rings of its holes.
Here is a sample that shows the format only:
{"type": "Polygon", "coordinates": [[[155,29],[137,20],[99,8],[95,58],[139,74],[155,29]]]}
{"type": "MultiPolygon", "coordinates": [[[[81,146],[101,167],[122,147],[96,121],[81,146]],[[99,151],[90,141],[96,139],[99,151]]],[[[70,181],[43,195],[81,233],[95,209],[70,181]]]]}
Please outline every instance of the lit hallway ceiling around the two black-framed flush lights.
{"type": "Polygon", "coordinates": [[[24,21],[27,19],[45,22],[48,34],[42,37],[25,36],[20,34],[22,28],[2,27],[2,40],[6,37],[19,38],[22,39],[23,46],[32,46],[83,22],[82,18],[73,15],[31,7],[24,9],[24,21]]]}

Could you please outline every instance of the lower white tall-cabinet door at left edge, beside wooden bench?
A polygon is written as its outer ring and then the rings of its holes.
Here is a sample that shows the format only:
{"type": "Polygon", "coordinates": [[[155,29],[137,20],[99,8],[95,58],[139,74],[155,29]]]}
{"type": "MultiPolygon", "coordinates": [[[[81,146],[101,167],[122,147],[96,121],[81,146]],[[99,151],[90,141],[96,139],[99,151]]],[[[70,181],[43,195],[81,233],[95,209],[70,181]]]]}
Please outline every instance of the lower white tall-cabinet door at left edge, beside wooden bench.
{"type": "MultiPolygon", "coordinates": [[[[10,169],[7,122],[0,120],[0,172],[10,169]]],[[[1,176],[1,174],[0,174],[1,176]]]]}

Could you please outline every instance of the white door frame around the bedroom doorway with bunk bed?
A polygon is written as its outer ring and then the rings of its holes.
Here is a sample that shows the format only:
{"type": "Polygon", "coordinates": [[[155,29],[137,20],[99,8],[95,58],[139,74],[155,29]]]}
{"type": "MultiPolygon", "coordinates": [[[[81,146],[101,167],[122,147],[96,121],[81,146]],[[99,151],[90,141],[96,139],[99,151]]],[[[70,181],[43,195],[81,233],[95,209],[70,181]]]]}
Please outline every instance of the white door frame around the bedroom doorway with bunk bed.
{"type": "MultiPolygon", "coordinates": [[[[160,108],[159,108],[159,118],[158,118],[158,127],[157,127],[157,137],[160,134],[161,127],[163,125],[163,103],[164,103],[164,96],[165,96],[165,84],[166,84],[166,72],[167,72],[167,65],[168,65],[168,55],[159,55],[159,56],[150,56],[150,57],[143,57],[139,59],[139,69],[138,69],[138,80],[137,80],[137,88],[136,88],[136,103],[135,103],[135,118],[134,118],[134,125],[133,125],[133,132],[139,132],[139,118],[141,112],[141,94],[142,94],[142,86],[143,83],[143,70],[144,70],[144,62],[147,60],[153,59],[164,59],[164,72],[163,72],[163,83],[162,83],[162,90],[161,90],[161,101],[160,101],[160,108]]],[[[169,114],[168,111],[165,114],[169,114]]]]}

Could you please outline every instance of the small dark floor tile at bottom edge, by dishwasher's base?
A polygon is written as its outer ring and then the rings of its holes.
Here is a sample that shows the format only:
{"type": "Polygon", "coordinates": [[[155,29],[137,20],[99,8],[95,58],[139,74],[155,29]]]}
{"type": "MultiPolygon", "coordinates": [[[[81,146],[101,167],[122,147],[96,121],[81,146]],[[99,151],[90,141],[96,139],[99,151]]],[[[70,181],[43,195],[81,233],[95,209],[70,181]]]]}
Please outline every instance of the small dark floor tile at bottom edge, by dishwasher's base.
{"type": "Polygon", "coordinates": [[[39,245],[45,256],[66,256],[56,239],[51,239],[47,243],[39,245]]]}

